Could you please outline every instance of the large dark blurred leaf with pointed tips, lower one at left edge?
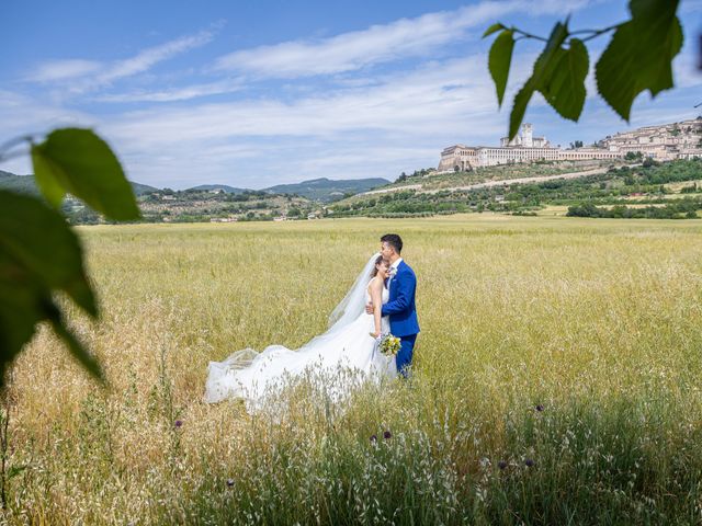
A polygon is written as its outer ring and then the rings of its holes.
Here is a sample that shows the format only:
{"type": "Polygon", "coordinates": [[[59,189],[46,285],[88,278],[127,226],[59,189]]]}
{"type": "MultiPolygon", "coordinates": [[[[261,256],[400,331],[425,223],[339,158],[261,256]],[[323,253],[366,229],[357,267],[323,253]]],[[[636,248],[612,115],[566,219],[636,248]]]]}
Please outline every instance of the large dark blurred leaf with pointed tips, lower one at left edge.
{"type": "Polygon", "coordinates": [[[0,191],[0,386],[7,365],[45,320],[73,355],[101,377],[61,321],[53,300],[58,290],[89,315],[98,315],[79,240],[64,217],[37,198],[0,191]]]}

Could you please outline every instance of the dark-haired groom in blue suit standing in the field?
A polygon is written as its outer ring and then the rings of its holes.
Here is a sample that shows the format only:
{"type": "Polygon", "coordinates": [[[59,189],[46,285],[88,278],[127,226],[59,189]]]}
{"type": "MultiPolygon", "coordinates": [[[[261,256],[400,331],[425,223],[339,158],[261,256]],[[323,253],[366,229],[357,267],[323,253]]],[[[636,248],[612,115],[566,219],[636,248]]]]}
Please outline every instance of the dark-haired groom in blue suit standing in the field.
{"type": "MultiPolygon", "coordinates": [[[[417,276],[400,258],[401,251],[403,240],[396,233],[386,233],[381,238],[381,254],[390,265],[389,278],[387,279],[389,298],[387,304],[383,306],[383,316],[389,316],[390,332],[400,340],[395,361],[399,374],[407,378],[408,368],[412,363],[415,342],[419,333],[419,323],[415,308],[417,276]]],[[[372,315],[372,305],[369,304],[365,310],[372,315]]]]}

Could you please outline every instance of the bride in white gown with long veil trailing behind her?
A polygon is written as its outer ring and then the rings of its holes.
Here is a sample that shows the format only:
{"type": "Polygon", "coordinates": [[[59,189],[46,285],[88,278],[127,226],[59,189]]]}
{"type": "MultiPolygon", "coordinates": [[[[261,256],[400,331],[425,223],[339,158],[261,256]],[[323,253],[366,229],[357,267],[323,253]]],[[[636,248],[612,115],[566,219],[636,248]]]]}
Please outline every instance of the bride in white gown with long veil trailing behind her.
{"type": "MultiPolygon", "coordinates": [[[[349,370],[375,381],[395,377],[395,357],[382,354],[377,345],[378,336],[389,332],[387,317],[381,317],[382,305],[388,299],[384,286],[388,268],[387,261],[374,254],[329,317],[327,332],[298,350],[270,345],[259,354],[245,348],[224,362],[210,362],[205,401],[242,398],[247,409],[253,411],[285,380],[306,373],[333,375],[349,370]],[[365,312],[369,301],[373,304],[372,315],[365,312]]],[[[342,391],[347,390],[348,387],[342,387],[342,391]]],[[[337,392],[335,398],[343,395],[337,392]]]]}

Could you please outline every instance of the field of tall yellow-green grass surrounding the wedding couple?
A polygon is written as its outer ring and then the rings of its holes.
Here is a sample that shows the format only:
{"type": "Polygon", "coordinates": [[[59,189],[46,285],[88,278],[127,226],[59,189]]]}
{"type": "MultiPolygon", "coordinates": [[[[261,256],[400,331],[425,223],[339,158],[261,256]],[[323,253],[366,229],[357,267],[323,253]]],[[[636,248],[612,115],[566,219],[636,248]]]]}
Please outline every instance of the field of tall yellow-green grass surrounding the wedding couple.
{"type": "Polygon", "coordinates": [[[9,524],[702,522],[698,221],[79,231],[104,316],[71,322],[110,388],[39,331],[7,401],[9,524]],[[202,403],[208,361],[322,332],[386,231],[419,276],[410,381],[343,410],[303,382],[276,419],[202,403]]]}

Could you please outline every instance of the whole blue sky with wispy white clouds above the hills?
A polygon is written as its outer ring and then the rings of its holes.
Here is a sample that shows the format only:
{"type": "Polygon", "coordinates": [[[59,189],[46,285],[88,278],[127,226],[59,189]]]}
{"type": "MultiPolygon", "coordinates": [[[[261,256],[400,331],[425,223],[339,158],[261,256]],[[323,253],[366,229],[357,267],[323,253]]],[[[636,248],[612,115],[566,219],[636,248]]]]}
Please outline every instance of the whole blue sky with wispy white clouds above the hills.
{"type": "MultiPolygon", "coordinates": [[[[495,21],[546,35],[626,16],[623,0],[35,1],[1,9],[0,142],[95,128],[129,179],[159,187],[261,188],[305,179],[395,179],[442,148],[497,145],[539,46],[519,43],[501,111],[487,71],[495,21]]],[[[541,98],[526,121],[553,144],[702,113],[702,0],[682,0],[678,88],[641,95],[630,124],[596,96],[580,123],[541,98]]],[[[608,38],[595,41],[596,61],[608,38]]],[[[1,170],[31,173],[27,159],[1,170]]]]}

